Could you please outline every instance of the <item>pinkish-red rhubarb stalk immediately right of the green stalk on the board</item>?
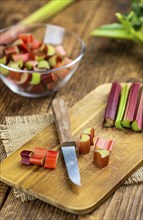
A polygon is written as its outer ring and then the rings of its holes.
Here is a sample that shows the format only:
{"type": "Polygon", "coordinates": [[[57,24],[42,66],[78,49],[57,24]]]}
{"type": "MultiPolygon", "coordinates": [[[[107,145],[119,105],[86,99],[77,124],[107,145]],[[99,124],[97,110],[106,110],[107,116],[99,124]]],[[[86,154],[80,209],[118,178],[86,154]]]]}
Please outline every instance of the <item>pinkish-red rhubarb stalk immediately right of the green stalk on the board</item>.
{"type": "Polygon", "coordinates": [[[140,83],[133,83],[130,87],[126,110],[124,113],[124,118],[122,120],[123,127],[130,128],[131,123],[134,120],[134,114],[136,110],[139,89],[140,89],[140,83]]]}

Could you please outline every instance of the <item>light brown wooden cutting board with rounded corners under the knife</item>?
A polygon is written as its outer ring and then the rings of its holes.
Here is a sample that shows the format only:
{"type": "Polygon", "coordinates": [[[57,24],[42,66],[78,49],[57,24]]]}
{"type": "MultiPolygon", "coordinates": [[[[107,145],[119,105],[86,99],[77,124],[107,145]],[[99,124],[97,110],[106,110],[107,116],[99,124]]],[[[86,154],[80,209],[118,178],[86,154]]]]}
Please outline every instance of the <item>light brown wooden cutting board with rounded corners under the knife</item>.
{"type": "Polygon", "coordinates": [[[88,213],[104,202],[143,162],[142,133],[102,127],[110,88],[111,84],[99,86],[70,109],[75,140],[89,126],[95,128],[95,139],[99,136],[115,140],[107,167],[99,169],[93,163],[92,146],[89,154],[78,157],[82,186],[77,187],[67,177],[61,153],[56,170],[21,165],[20,152],[23,149],[58,149],[58,136],[54,124],[51,124],[2,162],[1,180],[75,214],[88,213]]]}

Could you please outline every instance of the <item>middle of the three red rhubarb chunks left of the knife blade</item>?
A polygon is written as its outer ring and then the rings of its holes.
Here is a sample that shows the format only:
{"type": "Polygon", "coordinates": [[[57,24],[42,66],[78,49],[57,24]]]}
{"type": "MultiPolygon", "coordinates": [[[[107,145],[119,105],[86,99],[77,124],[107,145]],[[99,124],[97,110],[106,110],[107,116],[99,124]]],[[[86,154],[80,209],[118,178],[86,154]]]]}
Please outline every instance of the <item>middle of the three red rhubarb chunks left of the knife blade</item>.
{"type": "Polygon", "coordinates": [[[33,154],[30,157],[30,163],[42,166],[45,160],[46,153],[47,153],[46,148],[36,147],[33,151],[33,154]]]}

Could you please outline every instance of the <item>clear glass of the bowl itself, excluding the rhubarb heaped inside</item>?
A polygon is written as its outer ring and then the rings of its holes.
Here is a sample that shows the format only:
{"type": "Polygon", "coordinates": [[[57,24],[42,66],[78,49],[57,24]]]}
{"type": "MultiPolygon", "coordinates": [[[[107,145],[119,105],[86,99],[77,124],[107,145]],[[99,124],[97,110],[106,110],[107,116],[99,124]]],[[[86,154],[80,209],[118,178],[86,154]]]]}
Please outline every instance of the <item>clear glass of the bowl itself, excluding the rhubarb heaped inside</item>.
{"type": "MultiPolygon", "coordinates": [[[[0,64],[0,77],[5,85],[14,93],[25,97],[44,97],[53,94],[69,81],[79,66],[85,53],[85,44],[77,34],[63,27],[51,24],[33,24],[29,26],[16,25],[2,29],[0,35],[10,33],[11,41],[15,41],[20,33],[32,33],[34,38],[44,44],[64,48],[65,64],[50,69],[25,70],[15,69],[9,65],[0,64]]],[[[0,47],[13,44],[1,44],[0,47]]]]}

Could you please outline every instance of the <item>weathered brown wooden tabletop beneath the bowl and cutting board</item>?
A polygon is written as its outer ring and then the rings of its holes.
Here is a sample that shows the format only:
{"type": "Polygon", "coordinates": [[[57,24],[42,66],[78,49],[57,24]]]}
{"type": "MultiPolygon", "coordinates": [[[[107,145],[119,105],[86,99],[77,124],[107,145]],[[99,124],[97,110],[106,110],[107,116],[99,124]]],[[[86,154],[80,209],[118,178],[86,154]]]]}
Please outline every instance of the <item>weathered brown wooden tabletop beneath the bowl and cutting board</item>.
{"type": "MultiPolygon", "coordinates": [[[[59,0],[62,1],[62,0],[59,0]]],[[[12,25],[46,3],[36,1],[1,1],[1,28],[12,25]]],[[[95,27],[115,21],[116,11],[126,11],[127,0],[82,0],[59,13],[49,23],[75,31],[86,43],[86,54],[73,78],[51,97],[29,99],[12,93],[0,82],[0,122],[5,116],[31,115],[48,112],[55,97],[64,98],[69,106],[102,83],[143,78],[141,49],[131,42],[114,42],[108,39],[91,39],[89,33],[95,27]]],[[[2,158],[5,157],[1,146],[2,158]]],[[[40,200],[22,203],[15,199],[12,189],[1,183],[1,219],[26,220],[140,220],[143,219],[141,201],[143,185],[120,187],[94,212],[73,215],[48,205],[40,200]]]]}

